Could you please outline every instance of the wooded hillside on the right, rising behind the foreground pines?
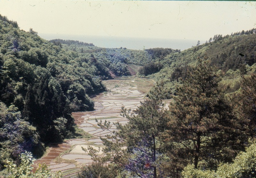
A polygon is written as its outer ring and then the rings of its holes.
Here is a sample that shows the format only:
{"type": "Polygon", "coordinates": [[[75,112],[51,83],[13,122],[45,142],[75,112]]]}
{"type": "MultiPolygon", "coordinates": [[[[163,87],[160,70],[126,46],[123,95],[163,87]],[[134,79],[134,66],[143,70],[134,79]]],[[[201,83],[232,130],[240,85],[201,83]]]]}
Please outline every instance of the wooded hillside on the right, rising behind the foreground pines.
{"type": "MultiPolygon", "coordinates": [[[[180,78],[186,78],[191,66],[195,66],[197,58],[210,60],[210,65],[219,69],[222,84],[227,86],[228,92],[240,87],[241,76],[255,72],[256,68],[256,30],[231,33],[231,35],[214,35],[204,44],[192,46],[184,51],[177,51],[157,58],[161,70],[148,75],[155,80],[167,80],[165,88],[174,93],[180,78]]],[[[147,67],[145,65],[143,68],[147,67]]],[[[151,70],[151,68],[149,69],[151,70]]]]}

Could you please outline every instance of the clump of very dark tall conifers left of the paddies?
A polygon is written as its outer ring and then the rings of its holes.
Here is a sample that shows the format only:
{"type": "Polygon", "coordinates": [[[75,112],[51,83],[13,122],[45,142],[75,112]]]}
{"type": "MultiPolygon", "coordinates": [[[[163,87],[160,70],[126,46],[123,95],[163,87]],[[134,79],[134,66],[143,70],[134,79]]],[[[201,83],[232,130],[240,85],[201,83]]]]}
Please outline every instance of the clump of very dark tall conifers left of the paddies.
{"type": "Polygon", "coordinates": [[[36,126],[43,141],[61,141],[56,139],[61,138],[54,127],[58,123],[55,121],[57,118],[66,118],[65,126],[67,130],[72,131],[74,122],[68,113],[70,113],[68,103],[60,86],[54,86],[52,81],[49,82],[44,78],[39,83],[35,83],[33,87],[28,86],[23,116],[36,126]]]}

